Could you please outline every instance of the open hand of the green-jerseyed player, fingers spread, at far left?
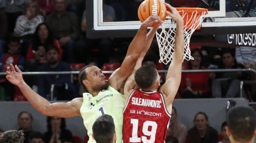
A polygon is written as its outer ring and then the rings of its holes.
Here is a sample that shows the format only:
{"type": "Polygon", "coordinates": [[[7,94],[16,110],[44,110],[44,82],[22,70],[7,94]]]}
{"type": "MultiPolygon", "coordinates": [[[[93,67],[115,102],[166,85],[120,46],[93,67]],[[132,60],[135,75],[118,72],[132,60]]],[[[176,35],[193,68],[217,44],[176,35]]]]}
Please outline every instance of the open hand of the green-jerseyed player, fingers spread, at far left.
{"type": "Polygon", "coordinates": [[[22,71],[20,71],[20,69],[18,68],[17,65],[15,65],[15,68],[12,64],[10,64],[10,66],[7,67],[7,71],[6,71],[6,78],[7,80],[9,80],[12,84],[14,85],[19,85],[20,83],[22,83],[23,78],[22,78],[22,71]],[[16,72],[15,69],[18,71],[16,72]]]}

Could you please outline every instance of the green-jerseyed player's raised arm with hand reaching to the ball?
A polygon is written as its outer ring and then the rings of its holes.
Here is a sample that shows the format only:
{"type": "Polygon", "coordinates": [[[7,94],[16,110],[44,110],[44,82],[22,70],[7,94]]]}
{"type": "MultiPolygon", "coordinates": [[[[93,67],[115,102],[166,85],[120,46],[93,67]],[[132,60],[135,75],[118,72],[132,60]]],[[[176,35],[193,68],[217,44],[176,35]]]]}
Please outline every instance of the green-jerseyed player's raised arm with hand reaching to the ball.
{"type": "Polygon", "coordinates": [[[147,20],[145,20],[140,29],[138,30],[136,36],[128,47],[125,59],[119,69],[117,69],[111,77],[109,77],[109,85],[114,87],[119,92],[123,93],[124,83],[127,78],[132,74],[134,67],[136,65],[137,59],[142,53],[145,45],[145,39],[147,35],[147,28],[152,27],[154,24],[158,26],[163,23],[159,16],[151,15],[147,20]]]}

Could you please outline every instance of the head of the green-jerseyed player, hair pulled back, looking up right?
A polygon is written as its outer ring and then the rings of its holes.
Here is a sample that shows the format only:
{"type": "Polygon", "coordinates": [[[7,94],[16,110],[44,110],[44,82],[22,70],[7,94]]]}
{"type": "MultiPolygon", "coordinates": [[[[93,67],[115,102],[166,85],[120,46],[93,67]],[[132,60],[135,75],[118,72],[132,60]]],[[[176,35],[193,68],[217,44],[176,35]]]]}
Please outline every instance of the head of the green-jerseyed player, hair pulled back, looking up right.
{"type": "Polygon", "coordinates": [[[108,81],[101,69],[94,65],[87,65],[79,71],[79,81],[86,90],[100,91],[108,88],[108,81]]]}

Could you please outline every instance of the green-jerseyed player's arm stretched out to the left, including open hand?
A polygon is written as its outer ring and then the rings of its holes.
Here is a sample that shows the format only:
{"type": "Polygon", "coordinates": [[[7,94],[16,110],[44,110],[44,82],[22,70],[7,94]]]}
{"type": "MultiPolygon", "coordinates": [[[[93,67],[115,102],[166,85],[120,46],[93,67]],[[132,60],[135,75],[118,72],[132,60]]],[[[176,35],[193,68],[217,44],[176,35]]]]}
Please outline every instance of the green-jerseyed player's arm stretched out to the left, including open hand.
{"type": "Polygon", "coordinates": [[[28,99],[31,105],[44,115],[58,117],[74,117],[80,116],[80,107],[83,98],[75,98],[68,103],[58,102],[51,104],[45,98],[35,93],[23,80],[22,71],[12,64],[7,67],[6,78],[20,88],[23,95],[28,99]],[[15,69],[18,71],[16,72],[15,69]]]}

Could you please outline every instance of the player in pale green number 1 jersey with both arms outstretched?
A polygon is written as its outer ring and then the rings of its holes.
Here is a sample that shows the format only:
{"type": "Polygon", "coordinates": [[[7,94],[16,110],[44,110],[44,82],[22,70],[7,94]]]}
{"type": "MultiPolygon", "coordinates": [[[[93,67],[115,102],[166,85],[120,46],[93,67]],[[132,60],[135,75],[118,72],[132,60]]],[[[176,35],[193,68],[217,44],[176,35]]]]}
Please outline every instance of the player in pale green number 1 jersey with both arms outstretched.
{"type": "Polygon", "coordinates": [[[88,65],[79,72],[79,79],[88,93],[83,93],[83,98],[75,98],[70,102],[50,103],[42,96],[35,93],[23,80],[22,72],[15,65],[7,68],[6,78],[17,85],[31,105],[44,115],[57,117],[82,116],[83,123],[88,130],[88,143],[96,143],[92,138],[92,125],[102,114],[113,117],[117,135],[117,143],[122,142],[123,108],[125,97],[123,95],[126,79],[133,72],[136,61],[144,49],[147,28],[163,21],[158,16],[150,16],[138,30],[129,45],[126,57],[119,69],[113,72],[107,81],[102,71],[97,66],[88,65]],[[15,71],[18,71],[16,72],[15,71]]]}

